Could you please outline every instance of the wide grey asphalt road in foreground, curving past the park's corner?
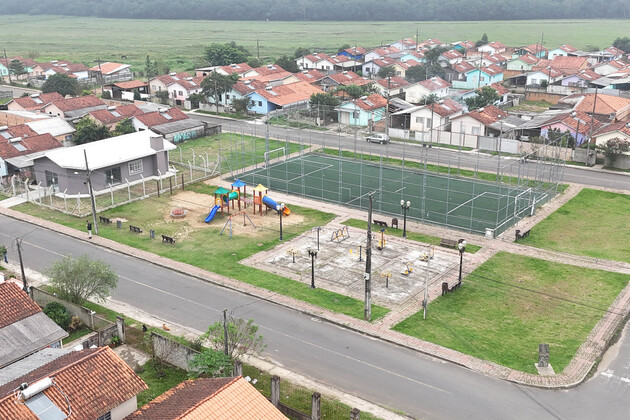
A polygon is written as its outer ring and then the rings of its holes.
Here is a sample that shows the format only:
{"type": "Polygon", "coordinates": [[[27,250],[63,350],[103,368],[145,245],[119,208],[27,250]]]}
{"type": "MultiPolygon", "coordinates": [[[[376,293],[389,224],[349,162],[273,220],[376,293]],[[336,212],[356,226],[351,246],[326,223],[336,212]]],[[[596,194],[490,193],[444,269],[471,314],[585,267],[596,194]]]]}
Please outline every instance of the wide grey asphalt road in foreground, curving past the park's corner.
{"type": "MultiPolygon", "coordinates": [[[[149,262],[0,216],[0,242],[22,236],[24,263],[42,271],[61,254],[89,254],[119,274],[114,299],[197,330],[227,308],[253,318],[264,356],[287,369],[384,406],[427,419],[627,418],[630,339],[608,353],[606,371],[567,391],[487,378],[335,325],[190,278],[149,262]]],[[[16,260],[15,247],[9,258],[16,260]]],[[[626,327],[626,330],[628,328],[626,327]]]]}

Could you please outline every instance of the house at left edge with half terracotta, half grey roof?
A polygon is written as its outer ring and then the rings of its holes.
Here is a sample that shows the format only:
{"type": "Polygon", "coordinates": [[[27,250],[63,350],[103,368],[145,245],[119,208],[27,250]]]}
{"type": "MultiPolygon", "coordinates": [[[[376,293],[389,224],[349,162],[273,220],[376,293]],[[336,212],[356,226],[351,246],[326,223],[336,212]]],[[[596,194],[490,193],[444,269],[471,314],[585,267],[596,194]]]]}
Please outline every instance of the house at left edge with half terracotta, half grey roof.
{"type": "Polygon", "coordinates": [[[61,348],[68,336],[12,281],[0,283],[0,308],[0,369],[46,347],[61,348]]]}

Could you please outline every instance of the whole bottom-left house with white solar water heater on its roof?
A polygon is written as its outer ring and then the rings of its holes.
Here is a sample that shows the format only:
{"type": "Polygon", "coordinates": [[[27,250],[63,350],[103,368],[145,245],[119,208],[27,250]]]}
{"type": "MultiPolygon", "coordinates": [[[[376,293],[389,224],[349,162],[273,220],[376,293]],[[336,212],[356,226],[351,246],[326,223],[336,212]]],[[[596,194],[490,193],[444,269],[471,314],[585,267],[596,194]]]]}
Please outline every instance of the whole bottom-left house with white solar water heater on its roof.
{"type": "Polygon", "coordinates": [[[109,347],[45,349],[3,375],[0,418],[122,420],[136,411],[145,389],[109,347]]]}

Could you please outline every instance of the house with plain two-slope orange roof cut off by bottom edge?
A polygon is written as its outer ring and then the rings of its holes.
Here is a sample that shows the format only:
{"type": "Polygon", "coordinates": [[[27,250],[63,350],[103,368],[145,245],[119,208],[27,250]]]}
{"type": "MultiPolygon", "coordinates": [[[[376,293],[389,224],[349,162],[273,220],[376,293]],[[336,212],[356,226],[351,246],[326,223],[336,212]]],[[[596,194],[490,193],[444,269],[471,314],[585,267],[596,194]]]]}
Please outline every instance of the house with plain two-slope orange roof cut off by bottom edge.
{"type": "Polygon", "coordinates": [[[243,379],[199,378],[166,391],[127,420],[241,419],[286,420],[273,404],[243,379]]]}

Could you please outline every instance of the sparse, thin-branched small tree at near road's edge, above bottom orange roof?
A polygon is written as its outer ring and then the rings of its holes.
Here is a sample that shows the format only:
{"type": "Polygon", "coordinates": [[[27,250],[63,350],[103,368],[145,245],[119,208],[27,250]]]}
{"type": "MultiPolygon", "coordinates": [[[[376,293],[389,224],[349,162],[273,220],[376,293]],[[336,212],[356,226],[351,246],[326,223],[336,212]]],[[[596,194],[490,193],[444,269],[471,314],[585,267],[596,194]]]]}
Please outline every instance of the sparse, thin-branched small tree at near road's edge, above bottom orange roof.
{"type": "Polygon", "coordinates": [[[241,360],[244,354],[260,354],[266,347],[253,319],[246,321],[232,315],[227,317],[225,325],[223,320],[210,325],[202,338],[208,339],[211,348],[216,351],[224,351],[227,342],[227,355],[232,360],[241,360]],[[227,341],[224,334],[226,326],[227,341]]]}

